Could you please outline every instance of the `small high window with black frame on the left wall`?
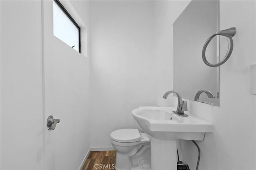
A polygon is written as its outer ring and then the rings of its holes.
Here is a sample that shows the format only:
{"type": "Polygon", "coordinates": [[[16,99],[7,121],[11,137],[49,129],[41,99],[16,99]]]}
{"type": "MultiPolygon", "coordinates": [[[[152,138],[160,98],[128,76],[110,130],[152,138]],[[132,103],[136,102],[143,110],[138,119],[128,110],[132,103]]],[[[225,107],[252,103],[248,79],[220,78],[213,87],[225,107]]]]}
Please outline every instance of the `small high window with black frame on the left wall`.
{"type": "Polygon", "coordinates": [[[58,0],[53,2],[53,34],[81,53],[80,26],[58,0]]]}

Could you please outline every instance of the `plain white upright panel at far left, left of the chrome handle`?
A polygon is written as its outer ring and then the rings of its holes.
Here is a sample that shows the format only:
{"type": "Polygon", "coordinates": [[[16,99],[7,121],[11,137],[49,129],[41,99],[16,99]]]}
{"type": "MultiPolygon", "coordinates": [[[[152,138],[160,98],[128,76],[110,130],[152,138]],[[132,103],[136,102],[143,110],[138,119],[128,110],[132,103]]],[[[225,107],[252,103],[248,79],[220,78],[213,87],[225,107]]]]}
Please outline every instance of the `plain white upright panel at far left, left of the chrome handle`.
{"type": "Polygon", "coordinates": [[[1,1],[1,169],[42,169],[40,1],[1,1]]]}

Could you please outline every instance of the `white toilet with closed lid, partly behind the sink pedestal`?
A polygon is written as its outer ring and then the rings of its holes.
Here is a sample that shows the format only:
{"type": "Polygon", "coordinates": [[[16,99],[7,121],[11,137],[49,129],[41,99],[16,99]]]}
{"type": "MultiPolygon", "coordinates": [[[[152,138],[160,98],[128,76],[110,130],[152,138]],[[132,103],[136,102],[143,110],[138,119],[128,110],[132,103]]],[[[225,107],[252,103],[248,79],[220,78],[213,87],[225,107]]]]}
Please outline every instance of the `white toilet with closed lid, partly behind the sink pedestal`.
{"type": "Polygon", "coordinates": [[[150,170],[150,136],[126,128],[110,134],[116,149],[116,170],[150,170]]]}

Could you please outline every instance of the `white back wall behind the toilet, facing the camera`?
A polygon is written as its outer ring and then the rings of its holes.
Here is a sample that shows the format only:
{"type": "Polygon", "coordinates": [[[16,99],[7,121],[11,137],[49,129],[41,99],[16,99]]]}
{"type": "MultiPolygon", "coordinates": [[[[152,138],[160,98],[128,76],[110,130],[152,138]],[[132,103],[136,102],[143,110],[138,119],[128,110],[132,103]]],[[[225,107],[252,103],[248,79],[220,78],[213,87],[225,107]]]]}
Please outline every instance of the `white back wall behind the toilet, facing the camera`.
{"type": "Polygon", "coordinates": [[[111,147],[113,130],[138,128],[132,109],[156,105],[153,5],[90,2],[92,147],[111,147]]]}

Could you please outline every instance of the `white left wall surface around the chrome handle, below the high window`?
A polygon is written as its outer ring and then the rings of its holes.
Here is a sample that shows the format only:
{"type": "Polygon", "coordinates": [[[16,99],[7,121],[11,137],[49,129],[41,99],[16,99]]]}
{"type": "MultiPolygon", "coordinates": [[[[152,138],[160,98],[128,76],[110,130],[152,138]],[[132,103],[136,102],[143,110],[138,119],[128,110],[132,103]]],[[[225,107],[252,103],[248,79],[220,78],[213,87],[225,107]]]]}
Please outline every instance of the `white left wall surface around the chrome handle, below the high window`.
{"type": "MultiPolygon", "coordinates": [[[[88,109],[88,59],[53,34],[53,1],[42,2],[44,119],[60,119],[44,128],[44,169],[77,170],[84,156],[88,109]]],[[[87,150],[88,151],[88,150],[87,150]]]]}

